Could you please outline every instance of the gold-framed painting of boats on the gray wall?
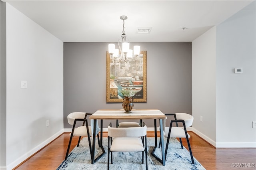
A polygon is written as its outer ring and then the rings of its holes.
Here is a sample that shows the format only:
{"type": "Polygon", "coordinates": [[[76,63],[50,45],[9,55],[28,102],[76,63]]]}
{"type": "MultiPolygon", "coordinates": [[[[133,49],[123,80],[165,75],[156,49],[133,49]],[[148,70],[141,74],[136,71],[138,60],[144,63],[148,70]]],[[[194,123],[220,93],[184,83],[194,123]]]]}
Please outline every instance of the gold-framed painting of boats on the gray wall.
{"type": "Polygon", "coordinates": [[[135,61],[114,61],[106,52],[106,102],[123,102],[122,89],[136,91],[133,102],[147,102],[147,51],[135,61]]]}

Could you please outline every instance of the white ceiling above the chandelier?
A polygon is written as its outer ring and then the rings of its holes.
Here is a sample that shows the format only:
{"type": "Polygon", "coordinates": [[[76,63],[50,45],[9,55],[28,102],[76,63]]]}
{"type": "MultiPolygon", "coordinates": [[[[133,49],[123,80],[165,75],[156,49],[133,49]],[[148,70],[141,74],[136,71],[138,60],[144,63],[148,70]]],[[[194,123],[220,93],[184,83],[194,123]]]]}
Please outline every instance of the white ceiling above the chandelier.
{"type": "Polygon", "coordinates": [[[253,0],[4,0],[63,42],[191,42],[253,0]],[[138,28],[152,28],[138,34],[138,28]],[[182,27],[187,29],[182,30],[182,27]]]}

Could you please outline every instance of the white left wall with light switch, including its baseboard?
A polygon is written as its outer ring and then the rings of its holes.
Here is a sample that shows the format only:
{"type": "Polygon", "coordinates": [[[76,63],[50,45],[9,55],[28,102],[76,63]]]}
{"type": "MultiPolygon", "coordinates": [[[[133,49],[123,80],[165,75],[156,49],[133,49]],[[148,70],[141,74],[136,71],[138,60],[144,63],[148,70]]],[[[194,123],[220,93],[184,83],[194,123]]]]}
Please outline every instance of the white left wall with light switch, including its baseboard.
{"type": "Polygon", "coordinates": [[[6,164],[11,169],[63,132],[63,42],[8,3],[6,20],[6,164]],[[27,89],[21,89],[22,80],[27,89]]]}

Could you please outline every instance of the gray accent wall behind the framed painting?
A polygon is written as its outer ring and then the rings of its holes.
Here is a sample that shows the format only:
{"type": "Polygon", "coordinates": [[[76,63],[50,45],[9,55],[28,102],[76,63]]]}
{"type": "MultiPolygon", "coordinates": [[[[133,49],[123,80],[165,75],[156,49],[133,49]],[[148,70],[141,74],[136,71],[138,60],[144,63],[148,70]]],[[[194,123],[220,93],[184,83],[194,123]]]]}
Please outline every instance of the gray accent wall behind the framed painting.
{"type": "MultiPolygon", "coordinates": [[[[134,103],[134,109],[192,114],[191,42],[139,45],[147,51],[147,103],[134,103]]],[[[122,109],[122,103],[106,103],[107,48],[106,42],[64,43],[64,128],[71,128],[67,115],[72,112],[122,109]]],[[[104,121],[103,127],[109,122],[115,123],[104,121]]],[[[145,123],[154,127],[152,120],[145,123]]]]}

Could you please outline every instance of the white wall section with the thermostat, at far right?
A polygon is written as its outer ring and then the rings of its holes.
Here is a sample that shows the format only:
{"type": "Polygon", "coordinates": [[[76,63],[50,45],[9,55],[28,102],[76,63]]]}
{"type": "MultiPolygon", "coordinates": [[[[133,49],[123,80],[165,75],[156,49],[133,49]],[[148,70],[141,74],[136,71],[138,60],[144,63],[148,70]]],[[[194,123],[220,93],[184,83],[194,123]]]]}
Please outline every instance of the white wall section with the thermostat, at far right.
{"type": "Polygon", "coordinates": [[[255,1],[216,27],[216,44],[216,146],[256,147],[255,1]]]}

